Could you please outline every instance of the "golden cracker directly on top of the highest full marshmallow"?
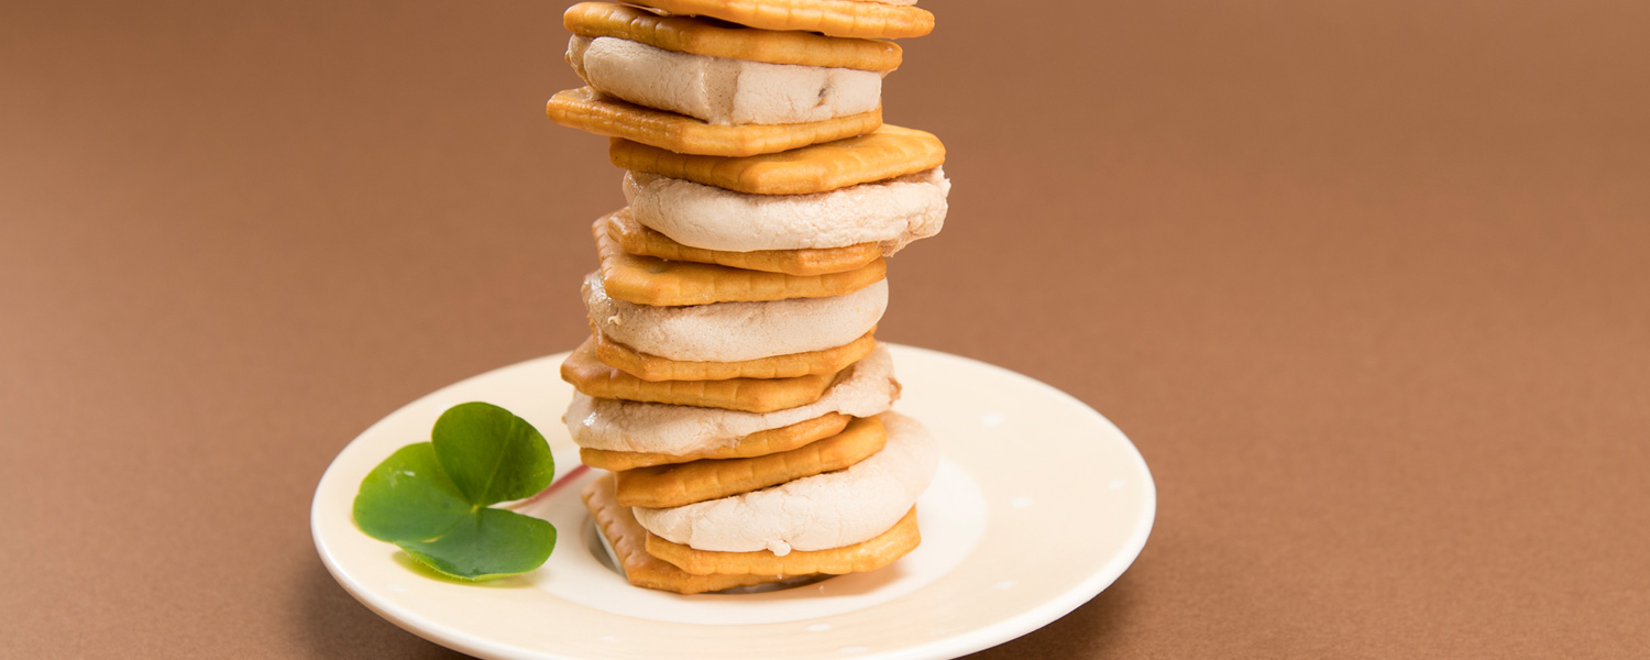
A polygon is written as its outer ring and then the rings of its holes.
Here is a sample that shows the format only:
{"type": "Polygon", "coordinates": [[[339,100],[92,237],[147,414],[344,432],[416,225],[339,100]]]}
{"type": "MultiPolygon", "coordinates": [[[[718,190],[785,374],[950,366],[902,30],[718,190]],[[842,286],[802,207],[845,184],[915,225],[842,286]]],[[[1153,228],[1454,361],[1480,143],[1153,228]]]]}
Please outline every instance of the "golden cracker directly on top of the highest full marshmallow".
{"type": "Polygon", "coordinates": [[[579,36],[614,36],[667,51],[749,59],[771,64],[830,66],[860,71],[893,71],[901,51],[891,41],[822,36],[807,31],[774,31],[731,26],[695,16],[660,16],[612,2],[581,2],[561,15],[579,36]]]}

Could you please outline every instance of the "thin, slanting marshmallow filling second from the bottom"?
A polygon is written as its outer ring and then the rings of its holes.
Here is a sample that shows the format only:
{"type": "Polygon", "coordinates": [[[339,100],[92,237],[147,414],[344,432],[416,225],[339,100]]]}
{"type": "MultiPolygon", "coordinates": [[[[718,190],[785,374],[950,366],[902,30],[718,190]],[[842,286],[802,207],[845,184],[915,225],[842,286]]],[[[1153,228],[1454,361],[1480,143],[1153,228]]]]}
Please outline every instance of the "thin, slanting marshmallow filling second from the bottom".
{"type": "Polygon", "coordinates": [[[888,411],[899,398],[894,361],[886,348],[878,346],[850,370],[818,401],[782,411],[741,412],[574,393],[561,421],[579,447],[683,455],[726,447],[744,436],[830,412],[870,417],[888,411]]]}

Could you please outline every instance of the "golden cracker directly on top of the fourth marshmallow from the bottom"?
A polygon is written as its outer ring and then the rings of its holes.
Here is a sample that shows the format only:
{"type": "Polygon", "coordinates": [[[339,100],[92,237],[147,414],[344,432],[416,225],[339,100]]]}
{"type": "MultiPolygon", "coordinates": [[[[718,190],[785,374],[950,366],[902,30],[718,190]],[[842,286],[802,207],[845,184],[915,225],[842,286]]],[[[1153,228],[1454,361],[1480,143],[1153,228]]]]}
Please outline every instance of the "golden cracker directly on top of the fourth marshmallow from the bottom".
{"type": "Polygon", "coordinates": [[[607,147],[614,165],[749,195],[825,193],[945,163],[945,145],[934,134],[889,124],[858,137],[744,157],[688,153],[624,137],[615,135],[607,147]]]}

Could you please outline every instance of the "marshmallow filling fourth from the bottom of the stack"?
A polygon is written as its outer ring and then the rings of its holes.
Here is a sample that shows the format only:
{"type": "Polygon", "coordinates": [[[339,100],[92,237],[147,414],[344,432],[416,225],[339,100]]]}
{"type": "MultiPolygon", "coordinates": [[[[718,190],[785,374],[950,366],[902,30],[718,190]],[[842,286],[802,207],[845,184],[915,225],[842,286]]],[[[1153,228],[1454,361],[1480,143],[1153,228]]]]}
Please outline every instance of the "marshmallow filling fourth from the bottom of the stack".
{"type": "Polygon", "coordinates": [[[624,177],[639,223],[685,246],[729,252],[879,243],[883,256],[893,256],[945,226],[949,193],[942,167],[810,195],[746,195],[642,172],[624,177]]]}

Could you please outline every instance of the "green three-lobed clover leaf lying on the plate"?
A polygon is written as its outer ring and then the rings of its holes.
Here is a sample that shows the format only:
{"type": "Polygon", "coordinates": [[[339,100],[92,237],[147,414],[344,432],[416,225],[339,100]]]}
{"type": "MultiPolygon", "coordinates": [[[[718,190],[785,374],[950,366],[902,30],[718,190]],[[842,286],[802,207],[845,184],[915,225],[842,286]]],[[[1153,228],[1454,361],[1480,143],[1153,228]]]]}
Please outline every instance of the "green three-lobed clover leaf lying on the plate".
{"type": "Polygon", "coordinates": [[[401,447],[361,480],[355,526],[452,578],[526,573],[549,558],[556,528],[488,505],[531,497],[554,474],[531,424],[493,404],[457,404],[431,442],[401,447]]]}

